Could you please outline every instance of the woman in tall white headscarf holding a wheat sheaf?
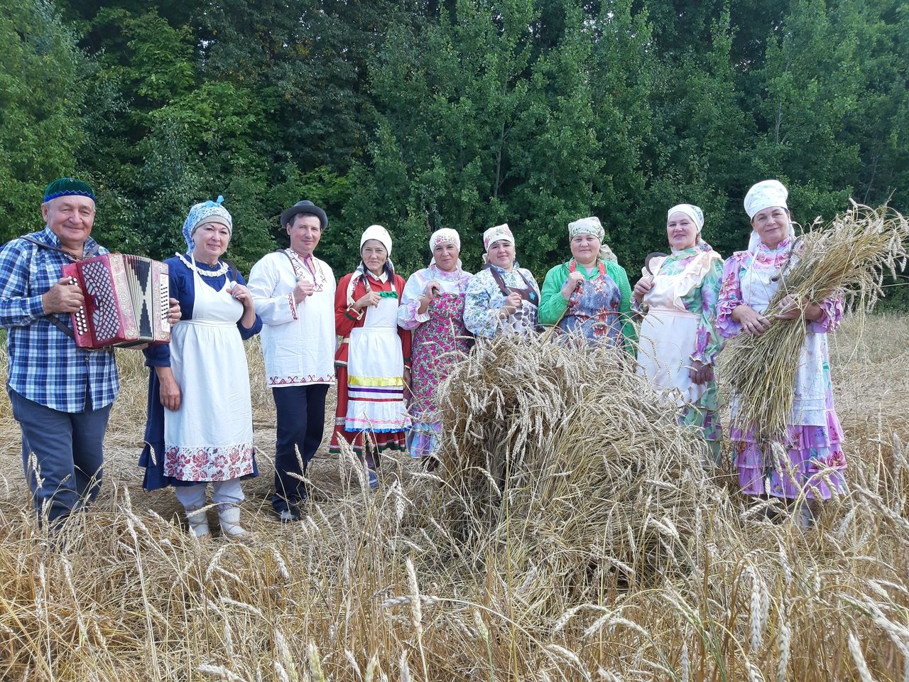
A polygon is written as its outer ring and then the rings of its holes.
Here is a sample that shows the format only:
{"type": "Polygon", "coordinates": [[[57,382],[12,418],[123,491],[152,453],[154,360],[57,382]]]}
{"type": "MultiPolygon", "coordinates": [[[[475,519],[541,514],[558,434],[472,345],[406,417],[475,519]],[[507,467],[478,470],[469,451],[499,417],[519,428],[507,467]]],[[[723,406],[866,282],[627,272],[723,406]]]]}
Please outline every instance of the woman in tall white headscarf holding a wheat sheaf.
{"type": "MultiPolygon", "coordinates": [[[[726,261],[717,305],[717,327],[727,338],[742,333],[760,336],[772,324],[764,311],[781,284],[784,268],[798,257],[787,197],[786,188],[777,180],[754,185],[744,197],[753,228],[751,241],[747,251],[736,252],[726,261]]],[[[786,296],[780,307],[784,312],[775,318],[801,316],[806,326],[800,349],[780,351],[801,354],[791,388],[793,408],[781,443],[785,458],[774,457],[771,444],[754,435],[756,425],[736,424],[734,404],[730,437],[739,484],[746,495],[827,499],[844,486],[843,428],[834,411],[826,336],[839,324],[843,301],[794,301],[786,296]]],[[[812,505],[802,510],[808,525],[812,505]]]]}

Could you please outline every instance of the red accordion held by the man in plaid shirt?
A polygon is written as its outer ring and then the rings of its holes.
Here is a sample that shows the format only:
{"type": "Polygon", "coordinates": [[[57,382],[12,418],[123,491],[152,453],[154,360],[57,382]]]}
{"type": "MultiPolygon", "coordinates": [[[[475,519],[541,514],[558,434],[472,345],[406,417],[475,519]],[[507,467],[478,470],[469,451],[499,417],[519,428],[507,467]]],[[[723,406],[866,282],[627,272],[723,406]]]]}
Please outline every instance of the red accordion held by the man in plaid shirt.
{"type": "Polygon", "coordinates": [[[105,254],[64,266],[63,276],[85,296],[85,306],[72,316],[76,346],[143,348],[170,341],[170,285],[164,263],[105,254]]]}

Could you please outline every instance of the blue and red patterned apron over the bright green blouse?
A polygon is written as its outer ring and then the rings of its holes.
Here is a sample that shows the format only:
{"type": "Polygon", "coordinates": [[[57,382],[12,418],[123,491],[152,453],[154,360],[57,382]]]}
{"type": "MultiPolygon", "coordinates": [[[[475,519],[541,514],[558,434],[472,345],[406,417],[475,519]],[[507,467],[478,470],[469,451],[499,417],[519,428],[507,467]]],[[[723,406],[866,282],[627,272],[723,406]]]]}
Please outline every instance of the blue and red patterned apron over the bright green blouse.
{"type": "MultiPolygon", "coordinates": [[[[599,276],[579,283],[568,299],[568,310],[559,329],[572,336],[581,336],[588,344],[607,342],[610,346],[622,343],[622,318],[619,305],[622,293],[606,275],[602,262],[597,264],[599,276]]],[[[577,269],[574,261],[568,267],[569,272],[577,269]]]]}

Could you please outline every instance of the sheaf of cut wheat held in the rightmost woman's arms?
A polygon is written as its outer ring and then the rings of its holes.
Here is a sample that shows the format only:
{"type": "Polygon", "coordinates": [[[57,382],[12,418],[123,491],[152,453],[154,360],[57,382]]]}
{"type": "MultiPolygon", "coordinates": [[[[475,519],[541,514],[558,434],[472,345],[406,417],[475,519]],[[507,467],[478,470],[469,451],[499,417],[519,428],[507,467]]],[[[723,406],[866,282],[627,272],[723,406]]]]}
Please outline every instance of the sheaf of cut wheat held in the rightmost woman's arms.
{"type": "Polygon", "coordinates": [[[780,286],[764,316],[761,336],[740,334],[724,353],[724,385],[736,402],[735,425],[754,426],[761,440],[784,436],[793,409],[794,379],[808,324],[804,317],[779,319],[784,299],[808,306],[834,296],[863,312],[883,295],[884,274],[896,275],[906,262],[909,223],[886,206],[854,204],[827,226],[800,237],[795,256],[781,273],[780,286]]]}

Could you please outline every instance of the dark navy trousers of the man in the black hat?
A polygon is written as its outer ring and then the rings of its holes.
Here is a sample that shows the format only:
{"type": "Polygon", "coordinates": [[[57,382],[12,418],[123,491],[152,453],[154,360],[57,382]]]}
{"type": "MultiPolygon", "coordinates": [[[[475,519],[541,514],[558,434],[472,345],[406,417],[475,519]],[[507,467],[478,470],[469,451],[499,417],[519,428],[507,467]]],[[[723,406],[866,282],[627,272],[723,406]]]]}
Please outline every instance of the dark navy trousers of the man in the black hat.
{"type": "Polygon", "coordinates": [[[272,389],[277,413],[272,506],[278,514],[291,511],[306,498],[306,486],[298,476],[305,474],[306,465],[322,444],[327,393],[327,384],[272,389]]]}

